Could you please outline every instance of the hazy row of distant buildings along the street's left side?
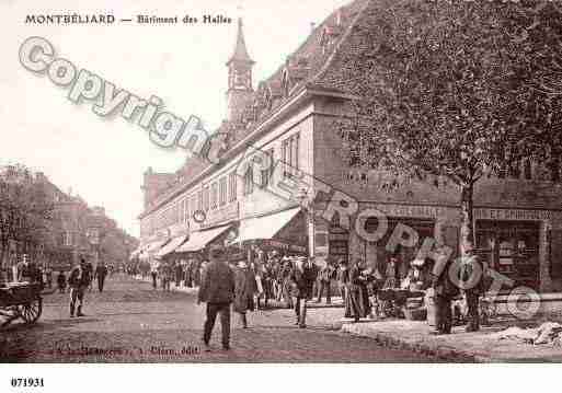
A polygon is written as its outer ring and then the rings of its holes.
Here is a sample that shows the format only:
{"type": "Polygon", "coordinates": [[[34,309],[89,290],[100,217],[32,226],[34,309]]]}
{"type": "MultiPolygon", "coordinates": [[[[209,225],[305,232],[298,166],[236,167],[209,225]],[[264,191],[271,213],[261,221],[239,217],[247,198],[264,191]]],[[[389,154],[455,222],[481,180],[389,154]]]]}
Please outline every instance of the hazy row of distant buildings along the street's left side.
{"type": "Polygon", "coordinates": [[[46,228],[38,233],[41,239],[10,240],[2,253],[2,268],[9,270],[23,255],[54,270],[68,270],[80,258],[94,265],[99,261],[112,265],[128,261],[130,252],[138,247],[138,240],[107,217],[103,207],[90,207],[79,195],[62,192],[42,172],[34,177],[49,205],[46,228]]]}

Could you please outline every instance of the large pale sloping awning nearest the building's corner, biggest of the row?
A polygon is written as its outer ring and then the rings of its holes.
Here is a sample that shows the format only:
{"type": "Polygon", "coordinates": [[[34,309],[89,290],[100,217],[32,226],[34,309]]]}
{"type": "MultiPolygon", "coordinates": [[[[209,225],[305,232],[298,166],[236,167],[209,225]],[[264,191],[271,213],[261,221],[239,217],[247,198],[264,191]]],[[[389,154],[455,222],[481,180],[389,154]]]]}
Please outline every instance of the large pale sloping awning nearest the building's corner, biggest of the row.
{"type": "Polygon", "coordinates": [[[243,220],[240,223],[238,243],[249,240],[273,239],[300,211],[300,207],[279,211],[275,215],[263,216],[243,220]]]}

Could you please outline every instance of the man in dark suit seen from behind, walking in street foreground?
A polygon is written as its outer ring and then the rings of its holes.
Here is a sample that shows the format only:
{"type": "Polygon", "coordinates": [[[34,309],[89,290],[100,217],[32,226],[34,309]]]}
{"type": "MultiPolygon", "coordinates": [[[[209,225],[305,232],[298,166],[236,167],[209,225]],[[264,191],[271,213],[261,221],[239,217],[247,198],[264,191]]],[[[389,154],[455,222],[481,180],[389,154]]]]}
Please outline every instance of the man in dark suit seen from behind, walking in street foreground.
{"type": "Polygon", "coordinates": [[[230,349],[230,303],[234,299],[234,273],[225,261],[225,252],[221,247],[213,247],[209,254],[210,262],[202,273],[197,301],[197,303],[207,303],[203,342],[208,350],[215,320],[220,313],[222,348],[230,349]]]}

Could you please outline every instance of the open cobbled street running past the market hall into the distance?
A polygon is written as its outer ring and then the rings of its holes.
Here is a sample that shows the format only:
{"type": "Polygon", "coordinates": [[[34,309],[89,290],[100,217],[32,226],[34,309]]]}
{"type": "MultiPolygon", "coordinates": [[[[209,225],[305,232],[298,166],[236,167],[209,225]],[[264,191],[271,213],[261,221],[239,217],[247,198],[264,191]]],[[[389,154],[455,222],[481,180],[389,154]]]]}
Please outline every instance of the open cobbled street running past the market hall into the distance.
{"type": "Polygon", "coordinates": [[[389,349],[374,340],[337,332],[328,313],[310,310],[309,327],[298,330],[290,310],[251,313],[251,328],[232,320],[232,349],[220,347],[215,326],[213,350],[200,342],[204,307],[194,294],[154,291],[147,282],[116,276],[106,290],[87,293],[87,316],[70,319],[68,294],[49,294],[35,325],[14,324],[1,332],[4,362],[355,362],[435,361],[408,350],[389,349]],[[321,315],[320,315],[321,314],[321,315]]]}

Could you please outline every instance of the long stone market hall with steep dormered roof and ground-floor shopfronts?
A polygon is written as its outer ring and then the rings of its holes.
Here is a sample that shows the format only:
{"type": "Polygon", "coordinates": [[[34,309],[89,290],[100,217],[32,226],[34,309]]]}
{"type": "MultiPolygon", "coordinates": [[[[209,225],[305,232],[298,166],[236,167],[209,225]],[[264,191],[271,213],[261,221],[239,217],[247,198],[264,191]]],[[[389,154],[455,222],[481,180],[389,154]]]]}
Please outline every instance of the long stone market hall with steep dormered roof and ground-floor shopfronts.
{"type": "MultiPolygon", "coordinates": [[[[167,252],[195,252],[214,241],[260,241],[322,258],[360,257],[383,271],[385,245],[398,222],[415,229],[418,244],[433,238],[458,250],[459,189],[411,182],[383,190],[380,172],[352,167],[343,153],[339,124],[354,96],[348,65],[365,41],[364,31],[355,26],[372,18],[370,5],[356,0],[337,9],[255,90],[254,61],[239,23],[227,62],[228,114],[217,130],[228,135],[228,149],[218,164],[187,160],[165,177],[175,178],[165,189],[152,186],[158,183],[153,176],[162,174],[145,174],[145,250],[171,239],[167,252]],[[253,164],[252,155],[257,157],[253,164]],[[274,164],[256,164],[264,158],[274,164]],[[357,212],[366,218],[362,212],[370,209],[388,217],[390,228],[382,240],[369,241],[369,227],[376,229],[377,220],[356,220],[357,212]],[[337,210],[352,212],[351,226],[337,210]],[[198,217],[202,211],[204,217],[198,217]]],[[[513,174],[477,184],[479,252],[515,285],[562,290],[562,188],[550,181],[557,174],[530,161],[513,174]]],[[[402,258],[412,258],[414,248],[402,247],[402,258]]]]}

